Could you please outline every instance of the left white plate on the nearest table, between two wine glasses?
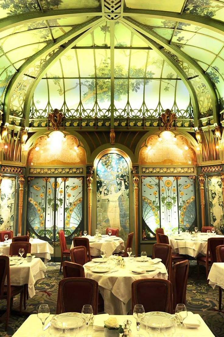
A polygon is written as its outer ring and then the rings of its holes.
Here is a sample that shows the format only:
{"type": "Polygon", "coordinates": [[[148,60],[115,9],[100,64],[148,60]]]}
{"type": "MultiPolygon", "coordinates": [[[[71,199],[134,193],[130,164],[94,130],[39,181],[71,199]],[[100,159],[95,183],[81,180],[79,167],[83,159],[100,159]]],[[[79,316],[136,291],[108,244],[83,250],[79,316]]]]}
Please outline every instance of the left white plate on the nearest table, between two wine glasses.
{"type": "Polygon", "coordinates": [[[79,312],[65,312],[63,314],[56,315],[51,321],[53,327],[63,329],[64,324],[66,328],[82,327],[85,324],[79,312]]]}

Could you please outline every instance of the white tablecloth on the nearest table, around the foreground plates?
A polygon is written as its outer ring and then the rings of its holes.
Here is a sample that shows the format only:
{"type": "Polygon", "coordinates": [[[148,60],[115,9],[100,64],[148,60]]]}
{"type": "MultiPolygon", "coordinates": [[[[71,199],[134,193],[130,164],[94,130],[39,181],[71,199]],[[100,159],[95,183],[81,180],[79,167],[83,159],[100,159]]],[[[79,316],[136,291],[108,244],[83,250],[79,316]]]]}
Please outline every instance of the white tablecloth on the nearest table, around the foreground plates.
{"type": "MultiPolygon", "coordinates": [[[[50,315],[50,317],[46,320],[45,325],[51,320],[53,315],[50,315]]],[[[131,320],[131,330],[132,334],[131,336],[137,335],[136,330],[136,320],[132,315],[116,315],[117,320],[119,324],[123,325],[124,321],[126,319],[131,320]]],[[[197,314],[197,318],[200,321],[200,327],[197,329],[189,329],[183,327],[183,333],[186,335],[186,337],[215,337],[211,330],[208,328],[208,326],[205,324],[204,320],[200,317],[200,315],[197,314]]],[[[103,320],[103,318],[102,318],[103,320]]],[[[12,337],[36,337],[42,332],[42,323],[40,319],[37,317],[37,314],[30,315],[27,320],[21,325],[21,327],[16,331],[16,333],[12,337]]],[[[45,331],[46,336],[50,336],[49,329],[45,331]]],[[[92,335],[92,337],[103,337],[104,331],[94,331],[92,326],[89,327],[89,333],[92,335]]],[[[146,328],[143,324],[140,325],[140,334],[142,334],[144,337],[148,337],[148,333],[146,332],[146,328]]],[[[176,333],[180,333],[179,327],[176,328],[176,333]]],[[[77,337],[83,336],[85,334],[85,326],[81,327],[79,329],[79,332],[77,334],[77,337]]],[[[61,336],[65,336],[62,334],[61,336]]],[[[160,334],[159,336],[163,336],[163,334],[160,334]]],[[[174,337],[176,334],[174,335],[174,337]]]]}

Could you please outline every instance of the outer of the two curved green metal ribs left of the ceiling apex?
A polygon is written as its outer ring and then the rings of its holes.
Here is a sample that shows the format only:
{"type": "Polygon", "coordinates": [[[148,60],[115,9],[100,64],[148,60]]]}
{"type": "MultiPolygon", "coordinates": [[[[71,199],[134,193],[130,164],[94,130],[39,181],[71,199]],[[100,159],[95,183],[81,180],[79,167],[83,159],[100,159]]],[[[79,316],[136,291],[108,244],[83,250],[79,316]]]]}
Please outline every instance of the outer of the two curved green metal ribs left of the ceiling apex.
{"type": "Polygon", "coordinates": [[[15,73],[12,76],[12,79],[9,82],[9,85],[6,89],[5,94],[5,105],[4,105],[4,113],[5,113],[5,122],[8,123],[9,121],[9,115],[10,115],[10,102],[13,95],[13,88],[15,88],[18,84],[18,82],[21,80],[21,77],[24,75],[24,73],[28,72],[29,67],[34,64],[37,60],[41,59],[43,55],[51,53],[54,49],[58,48],[63,43],[71,40],[72,38],[78,36],[79,34],[87,31],[90,28],[96,28],[97,24],[101,24],[103,22],[102,18],[93,18],[92,20],[85,22],[82,25],[79,25],[78,27],[75,27],[68,33],[65,33],[64,35],[58,37],[55,42],[48,43],[43,49],[41,49],[39,52],[34,54],[32,57],[30,57],[20,68],[17,73],[15,73]]]}

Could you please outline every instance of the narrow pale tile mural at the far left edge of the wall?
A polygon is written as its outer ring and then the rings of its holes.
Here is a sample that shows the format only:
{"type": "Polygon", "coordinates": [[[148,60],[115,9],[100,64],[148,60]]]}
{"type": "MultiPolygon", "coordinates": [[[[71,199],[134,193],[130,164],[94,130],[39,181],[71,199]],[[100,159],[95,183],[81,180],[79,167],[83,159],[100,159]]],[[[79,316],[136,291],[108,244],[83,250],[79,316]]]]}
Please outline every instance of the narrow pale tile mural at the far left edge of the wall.
{"type": "Polygon", "coordinates": [[[0,195],[0,230],[14,229],[15,178],[2,179],[0,195]]]}

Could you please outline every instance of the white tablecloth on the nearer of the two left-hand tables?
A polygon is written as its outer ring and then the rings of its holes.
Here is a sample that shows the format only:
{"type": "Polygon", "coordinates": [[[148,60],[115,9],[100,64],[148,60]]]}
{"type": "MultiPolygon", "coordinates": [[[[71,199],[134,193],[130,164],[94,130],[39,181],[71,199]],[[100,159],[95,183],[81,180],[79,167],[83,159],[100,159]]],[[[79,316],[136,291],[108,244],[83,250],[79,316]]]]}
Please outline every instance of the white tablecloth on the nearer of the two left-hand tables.
{"type": "MultiPolygon", "coordinates": [[[[20,261],[20,260],[19,260],[20,261]]],[[[32,262],[24,262],[18,266],[10,266],[10,282],[11,285],[28,284],[28,293],[32,298],[35,295],[35,283],[43,279],[44,272],[47,270],[45,264],[40,258],[33,258],[32,262]]]]}

